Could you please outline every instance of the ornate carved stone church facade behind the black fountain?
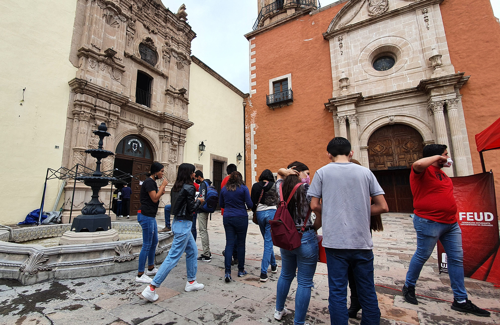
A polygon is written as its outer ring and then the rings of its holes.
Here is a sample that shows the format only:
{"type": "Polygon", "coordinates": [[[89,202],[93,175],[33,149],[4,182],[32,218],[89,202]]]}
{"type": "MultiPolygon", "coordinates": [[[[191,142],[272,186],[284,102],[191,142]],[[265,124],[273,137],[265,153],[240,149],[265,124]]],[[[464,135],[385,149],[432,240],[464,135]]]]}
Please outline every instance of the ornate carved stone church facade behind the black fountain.
{"type": "MultiPolygon", "coordinates": [[[[103,160],[102,170],[138,174],[159,161],[170,183],[175,179],[183,162],[186,129],[193,124],[187,106],[195,33],[184,9],[182,5],[173,13],[160,0],[77,1],[70,61],[78,70],[69,81],[62,166],[95,168],[95,159],[84,151],[97,147],[98,138],[91,131],[105,122],[111,136],[104,148],[116,154],[103,160]]],[[[139,179],[129,184],[134,212],[139,179]]],[[[88,189],[76,183],[73,216],[88,201],[88,189]]],[[[64,188],[64,222],[72,192],[70,180],[64,188]]],[[[105,205],[109,196],[108,185],[100,196],[105,205]]]]}

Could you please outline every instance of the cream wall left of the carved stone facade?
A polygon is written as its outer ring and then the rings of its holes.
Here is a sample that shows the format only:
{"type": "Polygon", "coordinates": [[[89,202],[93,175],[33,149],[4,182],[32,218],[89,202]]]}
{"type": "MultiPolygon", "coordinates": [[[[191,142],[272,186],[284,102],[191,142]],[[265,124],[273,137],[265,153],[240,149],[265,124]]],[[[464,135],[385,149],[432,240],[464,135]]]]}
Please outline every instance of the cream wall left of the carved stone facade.
{"type": "MultiPolygon", "coordinates": [[[[61,165],[75,8],[76,0],[0,1],[1,224],[39,208],[47,167],[61,165]]],[[[47,182],[44,210],[58,186],[47,182]]]]}

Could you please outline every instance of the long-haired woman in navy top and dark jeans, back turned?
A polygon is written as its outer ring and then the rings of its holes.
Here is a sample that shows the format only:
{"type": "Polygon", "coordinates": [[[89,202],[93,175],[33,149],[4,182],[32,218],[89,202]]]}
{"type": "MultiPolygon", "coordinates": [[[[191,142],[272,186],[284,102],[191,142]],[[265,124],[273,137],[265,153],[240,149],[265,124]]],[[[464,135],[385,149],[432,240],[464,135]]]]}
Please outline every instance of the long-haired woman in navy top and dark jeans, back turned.
{"type": "MultiPolygon", "coordinates": [[[[225,230],[225,251],[232,251],[234,239],[236,239],[238,251],[238,277],[248,274],[245,271],[245,240],[248,229],[247,209],[253,206],[250,192],[246,187],[243,176],[239,171],[233,171],[224,187],[220,190],[219,205],[224,208],[222,223],[225,230]]],[[[224,280],[229,282],[231,278],[231,254],[225,254],[225,276],[224,280]]]]}

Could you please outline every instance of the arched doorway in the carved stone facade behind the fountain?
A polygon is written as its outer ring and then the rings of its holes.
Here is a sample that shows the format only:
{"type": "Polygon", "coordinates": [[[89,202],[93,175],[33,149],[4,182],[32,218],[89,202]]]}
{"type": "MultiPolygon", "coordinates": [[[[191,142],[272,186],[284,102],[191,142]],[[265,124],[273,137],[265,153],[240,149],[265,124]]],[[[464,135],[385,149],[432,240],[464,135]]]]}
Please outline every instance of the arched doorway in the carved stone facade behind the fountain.
{"type": "Polygon", "coordinates": [[[147,176],[143,172],[149,171],[149,167],[153,162],[151,147],[140,136],[128,135],[121,139],[114,152],[115,169],[117,168],[131,175],[140,174],[136,178],[128,180],[128,186],[132,190],[130,195],[130,215],[136,215],[140,207],[139,180],[146,179],[147,176]]]}

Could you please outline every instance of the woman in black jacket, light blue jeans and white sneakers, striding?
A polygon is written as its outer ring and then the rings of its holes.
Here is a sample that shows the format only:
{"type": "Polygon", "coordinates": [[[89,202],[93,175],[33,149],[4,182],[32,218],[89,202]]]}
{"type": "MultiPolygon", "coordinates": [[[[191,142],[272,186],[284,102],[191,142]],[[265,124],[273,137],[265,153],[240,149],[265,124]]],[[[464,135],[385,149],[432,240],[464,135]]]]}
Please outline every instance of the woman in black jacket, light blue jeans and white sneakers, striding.
{"type": "Polygon", "coordinates": [[[198,247],[191,233],[193,212],[203,203],[203,198],[194,197],[194,165],[181,163],[177,178],[170,192],[173,240],[168,255],[159,267],[151,283],[142,290],[142,297],[153,302],[158,300],[156,287],[166,278],[170,270],[177,265],[182,254],[186,253],[187,281],[185,291],[201,290],[204,285],[196,281],[198,247]]]}

